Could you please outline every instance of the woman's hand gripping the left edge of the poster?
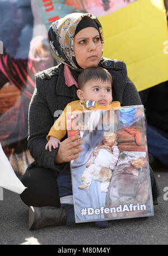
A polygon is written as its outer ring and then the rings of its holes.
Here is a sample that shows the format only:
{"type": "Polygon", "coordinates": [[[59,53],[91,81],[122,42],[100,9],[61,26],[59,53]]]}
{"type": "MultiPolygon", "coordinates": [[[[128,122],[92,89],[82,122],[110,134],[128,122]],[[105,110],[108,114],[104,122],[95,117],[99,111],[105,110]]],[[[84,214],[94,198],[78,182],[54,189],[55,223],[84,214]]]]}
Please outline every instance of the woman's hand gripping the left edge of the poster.
{"type": "Polygon", "coordinates": [[[82,140],[79,140],[80,138],[80,135],[75,135],[60,142],[59,150],[55,156],[55,163],[62,164],[76,159],[83,150],[83,147],[78,147],[83,143],[82,140]]]}

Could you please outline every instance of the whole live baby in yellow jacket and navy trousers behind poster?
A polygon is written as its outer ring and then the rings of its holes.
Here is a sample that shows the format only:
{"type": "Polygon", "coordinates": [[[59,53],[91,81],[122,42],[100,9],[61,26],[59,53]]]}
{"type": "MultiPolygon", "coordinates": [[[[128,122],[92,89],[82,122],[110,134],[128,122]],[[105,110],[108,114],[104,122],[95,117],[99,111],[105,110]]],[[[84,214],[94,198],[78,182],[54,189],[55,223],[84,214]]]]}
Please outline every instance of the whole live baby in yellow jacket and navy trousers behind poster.
{"type": "MultiPolygon", "coordinates": [[[[55,121],[46,137],[48,143],[45,146],[47,150],[52,151],[58,147],[60,140],[67,133],[67,113],[73,115],[76,111],[84,112],[85,110],[110,110],[114,107],[120,107],[120,102],[112,101],[112,78],[110,73],[100,67],[92,67],[83,70],[78,76],[77,96],[80,100],[69,103],[63,113],[55,121]]],[[[77,133],[79,130],[77,129],[77,133]]],[[[71,185],[70,168],[57,176],[59,189],[60,205],[67,210],[67,226],[75,224],[73,196],[71,185]],[[67,191],[66,191],[67,188],[67,191]]],[[[96,222],[99,227],[108,227],[108,221],[96,222]]]]}

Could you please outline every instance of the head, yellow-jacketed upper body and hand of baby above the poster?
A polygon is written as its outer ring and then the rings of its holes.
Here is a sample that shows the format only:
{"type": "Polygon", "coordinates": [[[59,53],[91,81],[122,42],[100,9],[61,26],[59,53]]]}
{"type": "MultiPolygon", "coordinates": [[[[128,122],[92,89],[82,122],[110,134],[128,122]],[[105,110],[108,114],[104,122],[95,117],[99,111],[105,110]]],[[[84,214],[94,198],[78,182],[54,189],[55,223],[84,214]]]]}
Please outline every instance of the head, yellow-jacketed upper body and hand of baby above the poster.
{"type": "Polygon", "coordinates": [[[69,103],[63,113],[55,121],[46,137],[48,143],[45,149],[52,151],[52,146],[58,147],[58,143],[67,133],[67,113],[73,114],[86,110],[110,110],[120,107],[119,101],[112,101],[112,78],[110,73],[100,67],[92,67],[82,71],[78,77],[77,96],[78,101],[69,103]]]}

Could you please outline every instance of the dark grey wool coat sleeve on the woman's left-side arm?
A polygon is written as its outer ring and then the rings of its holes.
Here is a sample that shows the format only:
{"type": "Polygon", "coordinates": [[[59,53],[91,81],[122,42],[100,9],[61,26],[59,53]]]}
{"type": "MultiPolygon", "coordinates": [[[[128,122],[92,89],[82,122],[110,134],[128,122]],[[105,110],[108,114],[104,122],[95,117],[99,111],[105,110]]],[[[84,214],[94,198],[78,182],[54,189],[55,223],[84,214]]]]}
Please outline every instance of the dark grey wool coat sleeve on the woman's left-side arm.
{"type": "Polygon", "coordinates": [[[55,164],[55,155],[59,147],[52,149],[52,152],[45,150],[45,145],[48,142],[46,135],[53,125],[53,116],[45,99],[44,80],[40,74],[36,75],[36,88],[29,106],[28,125],[28,149],[36,164],[53,169],[57,173],[63,172],[67,163],[55,164]]]}

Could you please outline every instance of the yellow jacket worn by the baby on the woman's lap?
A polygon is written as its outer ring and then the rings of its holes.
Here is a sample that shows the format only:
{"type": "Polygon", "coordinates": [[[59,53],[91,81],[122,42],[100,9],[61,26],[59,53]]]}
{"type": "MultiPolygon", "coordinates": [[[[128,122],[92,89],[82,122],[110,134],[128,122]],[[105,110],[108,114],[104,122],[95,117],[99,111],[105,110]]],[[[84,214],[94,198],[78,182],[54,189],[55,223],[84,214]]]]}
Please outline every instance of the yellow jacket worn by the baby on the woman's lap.
{"type": "Polygon", "coordinates": [[[46,136],[47,140],[49,140],[50,136],[54,136],[58,138],[58,140],[62,140],[67,133],[67,113],[77,113],[77,112],[84,112],[90,110],[110,110],[114,109],[115,107],[120,107],[119,101],[111,101],[110,104],[104,106],[99,105],[95,101],[72,101],[69,103],[66,108],[63,110],[62,114],[59,118],[55,121],[54,125],[50,129],[48,136],[46,136]]]}

